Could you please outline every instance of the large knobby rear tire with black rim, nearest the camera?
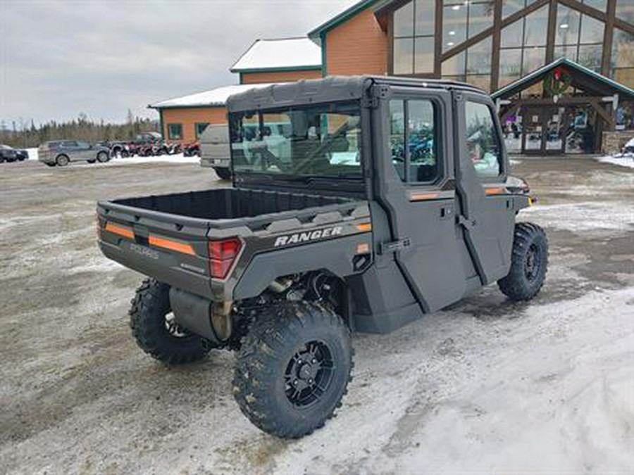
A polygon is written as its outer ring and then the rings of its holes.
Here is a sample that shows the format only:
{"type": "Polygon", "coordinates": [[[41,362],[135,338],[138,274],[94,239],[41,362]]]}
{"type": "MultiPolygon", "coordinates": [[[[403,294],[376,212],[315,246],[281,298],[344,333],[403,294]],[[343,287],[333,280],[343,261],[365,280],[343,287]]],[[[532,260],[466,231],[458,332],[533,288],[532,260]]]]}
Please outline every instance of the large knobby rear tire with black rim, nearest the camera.
{"type": "Polygon", "coordinates": [[[237,353],[235,400],[262,431],[306,436],[341,406],[352,355],[350,331],[331,310],[307,302],[272,306],[237,353]]]}

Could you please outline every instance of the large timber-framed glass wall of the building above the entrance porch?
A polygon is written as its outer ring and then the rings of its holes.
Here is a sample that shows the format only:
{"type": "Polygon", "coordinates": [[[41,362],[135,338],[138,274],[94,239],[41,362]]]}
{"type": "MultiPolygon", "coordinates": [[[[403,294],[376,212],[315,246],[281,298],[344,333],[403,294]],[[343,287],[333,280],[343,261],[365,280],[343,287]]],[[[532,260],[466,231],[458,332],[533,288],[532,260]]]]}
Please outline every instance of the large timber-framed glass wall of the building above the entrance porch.
{"type": "MultiPolygon", "coordinates": [[[[413,0],[391,25],[396,75],[493,91],[568,58],[634,87],[634,0],[413,0]]],[[[541,84],[524,94],[542,94],[541,84]]]]}

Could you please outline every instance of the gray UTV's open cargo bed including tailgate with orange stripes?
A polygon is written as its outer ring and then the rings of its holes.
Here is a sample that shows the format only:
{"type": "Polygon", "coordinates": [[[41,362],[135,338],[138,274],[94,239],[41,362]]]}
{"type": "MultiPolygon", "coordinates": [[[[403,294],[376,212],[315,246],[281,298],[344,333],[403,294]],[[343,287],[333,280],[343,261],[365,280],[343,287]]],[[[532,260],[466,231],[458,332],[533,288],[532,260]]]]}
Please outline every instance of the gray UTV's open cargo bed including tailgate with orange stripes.
{"type": "Polygon", "coordinates": [[[251,189],[211,189],[100,201],[99,245],[104,254],[171,286],[214,300],[230,299],[251,256],[270,250],[275,236],[350,223],[368,216],[366,201],[251,189]],[[242,240],[239,271],[213,284],[209,241],[242,240]]]}

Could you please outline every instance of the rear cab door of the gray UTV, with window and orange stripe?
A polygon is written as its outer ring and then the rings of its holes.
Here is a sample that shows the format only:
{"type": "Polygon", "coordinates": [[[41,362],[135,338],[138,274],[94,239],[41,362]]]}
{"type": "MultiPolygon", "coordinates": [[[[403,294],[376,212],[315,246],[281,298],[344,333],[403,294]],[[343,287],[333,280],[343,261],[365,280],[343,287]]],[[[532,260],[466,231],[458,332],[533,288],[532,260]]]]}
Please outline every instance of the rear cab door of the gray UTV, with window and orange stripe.
{"type": "Polygon", "coordinates": [[[373,118],[382,125],[373,128],[375,189],[392,234],[379,252],[394,255],[418,303],[433,312],[464,296],[470,272],[456,232],[451,94],[390,87],[373,118]]]}

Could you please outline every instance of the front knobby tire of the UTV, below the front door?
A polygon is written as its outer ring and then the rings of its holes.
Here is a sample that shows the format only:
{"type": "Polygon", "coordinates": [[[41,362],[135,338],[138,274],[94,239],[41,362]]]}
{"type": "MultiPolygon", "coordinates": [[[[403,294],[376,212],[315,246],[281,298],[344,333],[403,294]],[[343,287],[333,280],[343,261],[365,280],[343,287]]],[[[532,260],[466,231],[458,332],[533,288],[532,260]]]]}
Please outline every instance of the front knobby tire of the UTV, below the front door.
{"type": "Polygon", "coordinates": [[[497,281],[511,300],[530,300],[544,285],[548,267],[548,240],[544,229],[530,222],[515,225],[511,270],[497,281]]]}

